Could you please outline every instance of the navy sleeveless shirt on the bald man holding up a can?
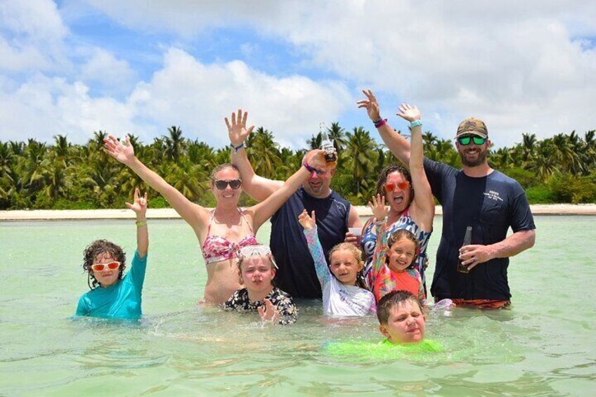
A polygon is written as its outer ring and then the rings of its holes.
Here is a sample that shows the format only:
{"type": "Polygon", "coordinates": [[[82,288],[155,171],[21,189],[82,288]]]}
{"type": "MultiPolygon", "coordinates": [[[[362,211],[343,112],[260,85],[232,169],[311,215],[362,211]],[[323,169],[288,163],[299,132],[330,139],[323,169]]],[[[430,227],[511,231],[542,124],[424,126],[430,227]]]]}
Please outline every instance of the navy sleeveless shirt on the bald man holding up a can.
{"type": "Polygon", "coordinates": [[[276,259],[276,285],[294,298],[320,298],[320,282],[298,216],[315,211],[318,238],[325,258],[334,245],[343,242],[348,231],[350,203],[332,191],[325,198],[312,197],[299,188],[271,217],[269,245],[276,259]]]}

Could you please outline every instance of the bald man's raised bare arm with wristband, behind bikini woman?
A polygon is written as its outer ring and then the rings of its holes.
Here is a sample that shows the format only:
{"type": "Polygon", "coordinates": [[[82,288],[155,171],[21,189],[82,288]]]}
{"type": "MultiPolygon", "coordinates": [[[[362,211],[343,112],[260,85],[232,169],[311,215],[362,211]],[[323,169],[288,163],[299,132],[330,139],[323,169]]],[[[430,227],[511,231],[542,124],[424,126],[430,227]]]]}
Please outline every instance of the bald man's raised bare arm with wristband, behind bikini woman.
{"type": "Polygon", "coordinates": [[[231,162],[240,171],[242,178],[242,188],[244,191],[258,202],[266,200],[273,192],[283,186],[283,181],[273,181],[254,174],[254,169],[248,160],[244,142],[250,135],[254,126],[246,128],[246,119],[248,112],[242,114],[238,109],[238,114],[232,113],[230,119],[226,117],[226,126],[228,126],[228,135],[232,145],[231,162]]]}

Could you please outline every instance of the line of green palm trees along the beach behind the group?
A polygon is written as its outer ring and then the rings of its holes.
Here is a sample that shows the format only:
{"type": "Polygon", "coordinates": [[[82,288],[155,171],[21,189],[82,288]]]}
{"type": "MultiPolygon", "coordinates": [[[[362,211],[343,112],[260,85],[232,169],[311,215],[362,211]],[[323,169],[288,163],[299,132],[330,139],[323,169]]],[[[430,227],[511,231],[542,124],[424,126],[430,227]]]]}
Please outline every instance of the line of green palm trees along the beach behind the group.
{"type": "MultiPolygon", "coordinates": [[[[375,191],[380,171],[398,160],[358,126],[346,131],[337,122],[326,128],[339,153],[332,188],[354,204],[363,205],[375,191]]],[[[0,141],[0,209],[96,209],[121,208],[131,200],[135,188],[145,190],[141,178],[103,152],[105,131],[96,131],[86,145],[74,145],[67,136],[56,135],[52,144],[35,139],[27,142],[0,141]]],[[[164,176],[189,200],[214,205],[209,174],[230,160],[229,147],[212,148],[207,143],[183,137],[178,126],[148,145],[131,135],[139,160],[164,176]]],[[[460,157],[448,139],[427,131],[423,135],[425,156],[460,167],[460,157]]],[[[321,134],[307,141],[309,148],[292,150],[276,143],[273,133],[260,127],[247,138],[248,156],[257,174],[285,180],[302,164],[306,150],[320,147],[321,134]]],[[[596,202],[595,131],[583,137],[557,134],[538,140],[522,134],[512,148],[490,151],[489,163],[517,179],[531,203],[596,202]]],[[[168,207],[155,191],[150,207],[168,207]]],[[[243,197],[241,204],[250,204],[243,197]]]]}

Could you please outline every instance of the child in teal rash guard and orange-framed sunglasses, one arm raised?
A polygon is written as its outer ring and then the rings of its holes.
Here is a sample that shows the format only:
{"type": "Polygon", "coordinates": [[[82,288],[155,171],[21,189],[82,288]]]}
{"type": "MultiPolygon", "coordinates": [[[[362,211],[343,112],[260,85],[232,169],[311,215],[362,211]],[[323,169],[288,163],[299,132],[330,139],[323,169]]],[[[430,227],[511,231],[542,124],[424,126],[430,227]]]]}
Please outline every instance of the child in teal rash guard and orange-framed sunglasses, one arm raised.
{"type": "Polygon", "coordinates": [[[118,245],[108,240],[92,242],[84,251],[83,263],[91,291],[79,299],[75,315],[120,319],[141,317],[141,291],[149,247],[145,217],[147,193],[140,197],[136,189],[134,204],[126,204],[136,213],[136,252],[131,270],[122,277],[126,268],[126,255],[118,245]]]}

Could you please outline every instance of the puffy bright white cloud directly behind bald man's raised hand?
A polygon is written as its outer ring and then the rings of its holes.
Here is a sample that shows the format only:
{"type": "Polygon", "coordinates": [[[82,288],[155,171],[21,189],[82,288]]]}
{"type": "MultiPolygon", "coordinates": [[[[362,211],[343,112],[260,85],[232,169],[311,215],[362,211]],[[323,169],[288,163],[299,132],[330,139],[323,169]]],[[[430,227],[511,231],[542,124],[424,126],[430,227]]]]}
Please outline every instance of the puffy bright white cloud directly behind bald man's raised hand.
{"type": "Polygon", "coordinates": [[[205,65],[171,48],[163,69],[137,86],[130,103],[162,134],[175,124],[188,138],[216,147],[228,144],[224,117],[243,108],[250,112],[248,122],[274,131],[279,143],[296,146],[318,131],[318,122],[337,117],[351,100],[341,84],[271,77],[240,61],[205,65]]]}

